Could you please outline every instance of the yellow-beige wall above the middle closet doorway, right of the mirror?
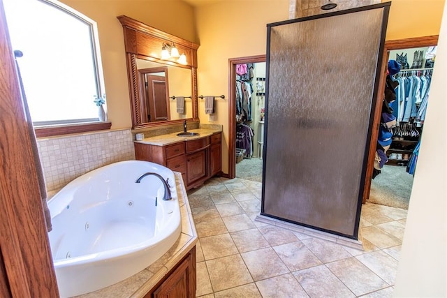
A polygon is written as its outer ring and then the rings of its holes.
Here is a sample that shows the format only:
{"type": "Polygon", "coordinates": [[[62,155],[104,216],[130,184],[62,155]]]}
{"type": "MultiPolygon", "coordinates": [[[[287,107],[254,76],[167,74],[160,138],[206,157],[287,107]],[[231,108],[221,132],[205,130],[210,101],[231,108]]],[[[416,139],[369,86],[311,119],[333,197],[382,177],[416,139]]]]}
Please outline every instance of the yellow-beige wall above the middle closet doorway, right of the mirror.
{"type": "Polygon", "coordinates": [[[200,123],[223,125],[222,171],[228,173],[228,59],[265,54],[266,24],[288,19],[288,0],[225,0],[196,9],[198,93],[216,100],[214,122],[199,100],[200,123]]]}

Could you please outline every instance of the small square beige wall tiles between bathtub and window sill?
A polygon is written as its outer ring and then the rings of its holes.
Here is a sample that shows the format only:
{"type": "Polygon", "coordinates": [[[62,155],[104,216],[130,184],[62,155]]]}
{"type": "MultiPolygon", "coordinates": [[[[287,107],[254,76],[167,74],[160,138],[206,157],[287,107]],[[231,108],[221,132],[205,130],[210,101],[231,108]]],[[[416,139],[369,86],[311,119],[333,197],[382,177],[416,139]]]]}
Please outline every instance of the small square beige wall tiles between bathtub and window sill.
{"type": "Polygon", "coordinates": [[[91,170],[135,160],[130,129],[39,138],[37,145],[48,198],[91,170]]]}

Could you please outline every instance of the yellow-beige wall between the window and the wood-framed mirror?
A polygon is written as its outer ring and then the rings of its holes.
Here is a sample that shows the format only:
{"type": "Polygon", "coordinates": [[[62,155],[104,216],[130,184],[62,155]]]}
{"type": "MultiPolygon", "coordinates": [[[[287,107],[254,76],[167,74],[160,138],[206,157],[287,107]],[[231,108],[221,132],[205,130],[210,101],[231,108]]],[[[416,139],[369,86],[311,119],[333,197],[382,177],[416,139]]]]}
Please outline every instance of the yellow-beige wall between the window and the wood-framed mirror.
{"type": "Polygon", "coordinates": [[[196,42],[193,8],[180,0],[61,0],[61,2],[97,22],[108,119],[112,121],[112,128],[131,128],[124,36],[117,16],[127,15],[156,29],[196,42]]]}

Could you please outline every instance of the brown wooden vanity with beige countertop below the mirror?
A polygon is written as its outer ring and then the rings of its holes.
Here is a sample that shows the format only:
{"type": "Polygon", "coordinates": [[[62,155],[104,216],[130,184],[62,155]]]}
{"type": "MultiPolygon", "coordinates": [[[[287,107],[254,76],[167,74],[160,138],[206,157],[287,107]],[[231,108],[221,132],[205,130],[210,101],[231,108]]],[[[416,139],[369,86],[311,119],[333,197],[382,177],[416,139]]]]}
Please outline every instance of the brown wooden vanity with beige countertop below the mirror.
{"type": "Polygon", "coordinates": [[[170,133],[135,141],[135,159],[180,172],[186,190],[196,188],[221,172],[221,131],[198,128],[191,132],[198,135],[170,133]]]}

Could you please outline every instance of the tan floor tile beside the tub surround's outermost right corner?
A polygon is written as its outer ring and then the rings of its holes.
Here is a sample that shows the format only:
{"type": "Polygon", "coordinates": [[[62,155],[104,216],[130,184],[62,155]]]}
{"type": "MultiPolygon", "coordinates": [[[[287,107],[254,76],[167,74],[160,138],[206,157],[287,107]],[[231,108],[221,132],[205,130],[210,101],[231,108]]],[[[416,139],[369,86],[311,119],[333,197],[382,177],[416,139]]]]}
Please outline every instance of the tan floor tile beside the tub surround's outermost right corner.
{"type": "Polygon", "coordinates": [[[239,253],[233,239],[231,239],[230,234],[228,233],[200,238],[200,244],[202,245],[205,260],[226,257],[227,255],[239,253]]]}

